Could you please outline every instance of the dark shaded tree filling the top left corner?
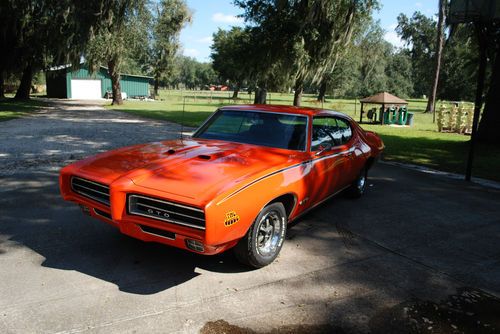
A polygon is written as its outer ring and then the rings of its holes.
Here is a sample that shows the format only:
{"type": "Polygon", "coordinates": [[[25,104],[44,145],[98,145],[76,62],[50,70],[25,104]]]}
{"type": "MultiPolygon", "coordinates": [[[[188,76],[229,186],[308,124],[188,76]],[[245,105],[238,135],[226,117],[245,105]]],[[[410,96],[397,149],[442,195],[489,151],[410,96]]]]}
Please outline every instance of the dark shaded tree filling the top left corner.
{"type": "Polygon", "coordinates": [[[16,98],[30,95],[33,73],[76,64],[92,29],[105,15],[104,0],[5,0],[0,2],[0,94],[6,74],[21,72],[16,98]]]}

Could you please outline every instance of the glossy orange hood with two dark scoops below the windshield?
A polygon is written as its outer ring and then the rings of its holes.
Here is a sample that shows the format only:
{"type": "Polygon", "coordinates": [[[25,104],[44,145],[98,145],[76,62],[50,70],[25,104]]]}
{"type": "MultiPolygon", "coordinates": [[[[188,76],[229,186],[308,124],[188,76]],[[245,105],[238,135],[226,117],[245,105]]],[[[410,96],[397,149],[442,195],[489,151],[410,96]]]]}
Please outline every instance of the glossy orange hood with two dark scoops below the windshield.
{"type": "Polygon", "coordinates": [[[80,170],[108,182],[127,176],[134,184],[202,200],[299,161],[303,153],[205,139],[126,147],[86,160],[80,170]]]}

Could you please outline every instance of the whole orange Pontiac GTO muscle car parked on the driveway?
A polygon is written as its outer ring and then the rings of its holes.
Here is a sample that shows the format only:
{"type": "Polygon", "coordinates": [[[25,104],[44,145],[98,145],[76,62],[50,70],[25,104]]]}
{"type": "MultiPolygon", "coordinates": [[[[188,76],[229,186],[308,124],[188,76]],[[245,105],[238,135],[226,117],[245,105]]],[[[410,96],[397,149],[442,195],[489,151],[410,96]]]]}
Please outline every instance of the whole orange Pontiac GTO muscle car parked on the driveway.
{"type": "Polygon", "coordinates": [[[75,162],[60,188],[121,233],[207,255],[234,248],[262,267],[278,256],[288,223],[342,190],[362,195],[383,149],[339,112],[228,106],[188,139],[75,162]]]}

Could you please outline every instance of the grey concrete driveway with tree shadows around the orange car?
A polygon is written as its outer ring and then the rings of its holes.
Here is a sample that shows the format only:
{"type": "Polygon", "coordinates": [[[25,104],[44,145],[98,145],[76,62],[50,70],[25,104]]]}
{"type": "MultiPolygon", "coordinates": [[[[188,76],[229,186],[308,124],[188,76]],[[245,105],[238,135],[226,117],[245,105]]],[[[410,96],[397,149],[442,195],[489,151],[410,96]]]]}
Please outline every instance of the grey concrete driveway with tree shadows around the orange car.
{"type": "Polygon", "coordinates": [[[58,102],[0,123],[0,333],[495,333],[500,191],[379,164],[288,231],[272,265],[120,235],[57,170],[177,125],[58,102]]]}

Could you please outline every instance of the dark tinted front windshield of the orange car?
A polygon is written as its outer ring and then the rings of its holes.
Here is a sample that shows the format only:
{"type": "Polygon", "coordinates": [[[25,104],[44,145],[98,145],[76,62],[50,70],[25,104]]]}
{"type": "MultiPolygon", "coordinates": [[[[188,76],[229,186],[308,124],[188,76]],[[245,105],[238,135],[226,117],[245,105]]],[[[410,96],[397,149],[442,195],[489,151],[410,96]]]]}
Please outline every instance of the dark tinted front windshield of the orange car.
{"type": "Polygon", "coordinates": [[[306,116],[219,110],[193,137],[305,151],[306,129],[306,116]]]}

